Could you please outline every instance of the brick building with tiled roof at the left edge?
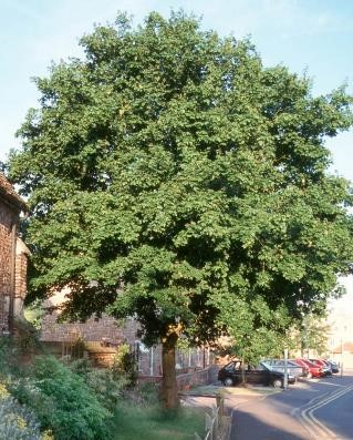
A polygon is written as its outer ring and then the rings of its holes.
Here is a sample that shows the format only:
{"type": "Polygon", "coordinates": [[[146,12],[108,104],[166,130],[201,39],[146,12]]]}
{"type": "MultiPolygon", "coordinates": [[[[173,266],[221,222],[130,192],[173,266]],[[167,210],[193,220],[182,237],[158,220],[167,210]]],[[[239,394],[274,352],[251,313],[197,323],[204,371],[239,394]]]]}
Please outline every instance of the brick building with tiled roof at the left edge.
{"type": "Polygon", "coordinates": [[[25,202],[0,173],[0,335],[11,332],[14,317],[23,313],[30,253],[18,236],[18,227],[25,211],[25,202]]]}

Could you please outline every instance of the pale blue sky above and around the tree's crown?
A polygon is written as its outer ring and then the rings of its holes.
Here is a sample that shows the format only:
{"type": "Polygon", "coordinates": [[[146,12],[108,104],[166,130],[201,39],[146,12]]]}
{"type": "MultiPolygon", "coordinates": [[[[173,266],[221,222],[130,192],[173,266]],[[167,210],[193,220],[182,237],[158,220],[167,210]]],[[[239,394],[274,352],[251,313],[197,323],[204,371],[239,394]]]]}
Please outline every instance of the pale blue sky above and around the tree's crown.
{"type": "MultiPolygon", "coordinates": [[[[183,8],[203,25],[236,38],[251,35],[266,65],[282,63],[313,78],[313,94],[349,82],[353,93],[353,1],[351,0],[0,0],[0,160],[19,145],[15,130],[37,106],[32,76],[52,61],[81,54],[79,38],[93,23],[113,21],[118,10],[141,22],[152,10],[183,8]]],[[[353,181],[353,132],[328,142],[333,171],[353,181]]]]}

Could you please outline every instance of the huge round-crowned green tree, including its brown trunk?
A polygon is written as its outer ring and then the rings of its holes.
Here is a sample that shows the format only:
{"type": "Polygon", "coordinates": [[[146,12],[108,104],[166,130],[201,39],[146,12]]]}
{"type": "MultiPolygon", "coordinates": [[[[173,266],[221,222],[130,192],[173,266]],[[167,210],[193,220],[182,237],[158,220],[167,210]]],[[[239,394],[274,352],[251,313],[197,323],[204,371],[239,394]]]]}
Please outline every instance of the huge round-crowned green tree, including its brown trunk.
{"type": "Polygon", "coordinates": [[[81,44],[83,60],[35,80],[10,157],[31,208],[29,298],[70,285],[68,317],[136,316],[163,344],[174,407],[180,334],[227,332],[238,297],[315,309],[350,270],[351,198],[324,137],[351,126],[352,99],[313,98],[305,76],[183,12],[136,29],[120,16],[81,44]]]}

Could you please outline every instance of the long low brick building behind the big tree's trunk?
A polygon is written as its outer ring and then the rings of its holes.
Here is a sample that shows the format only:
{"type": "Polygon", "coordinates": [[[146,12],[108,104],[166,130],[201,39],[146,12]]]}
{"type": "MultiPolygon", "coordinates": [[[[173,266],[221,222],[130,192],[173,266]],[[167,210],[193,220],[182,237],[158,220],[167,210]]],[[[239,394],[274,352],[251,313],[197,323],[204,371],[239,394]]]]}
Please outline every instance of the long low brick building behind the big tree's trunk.
{"type": "MultiPolygon", "coordinates": [[[[60,306],[70,288],[54,293],[44,304],[46,313],[41,325],[40,340],[58,356],[71,355],[76,341],[85,345],[89,357],[98,366],[108,366],[121,344],[127,344],[136,355],[139,377],[160,377],[162,346],[146,347],[138,338],[138,323],[134,318],[116,320],[108,315],[89,318],[84,323],[60,321],[60,306]]],[[[211,365],[209,348],[177,349],[176,368],[187,371],[211,365]]]]}

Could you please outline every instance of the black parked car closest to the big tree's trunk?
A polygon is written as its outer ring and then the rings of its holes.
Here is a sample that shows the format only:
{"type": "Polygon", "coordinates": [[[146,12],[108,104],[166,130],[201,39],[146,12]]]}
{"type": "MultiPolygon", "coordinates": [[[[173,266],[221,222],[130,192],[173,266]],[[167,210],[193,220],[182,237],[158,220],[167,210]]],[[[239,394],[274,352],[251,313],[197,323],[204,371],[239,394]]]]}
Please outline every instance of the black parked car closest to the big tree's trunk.
{"type": "MultiPolygon", "coordinates": [[[[264,385],[281,388],[284,385],[284,375],[280,371],[273,371],[263,365],[257,367],[246,366],[246,382],[251,385],[264,385]]],[[[218,371],[218,380],[227,387],[241,383],[242,370],[240,361],[230,361],[218,371]]],[[[288,383],[294,383],[295,378],[288,375],[288,383]]]]}

